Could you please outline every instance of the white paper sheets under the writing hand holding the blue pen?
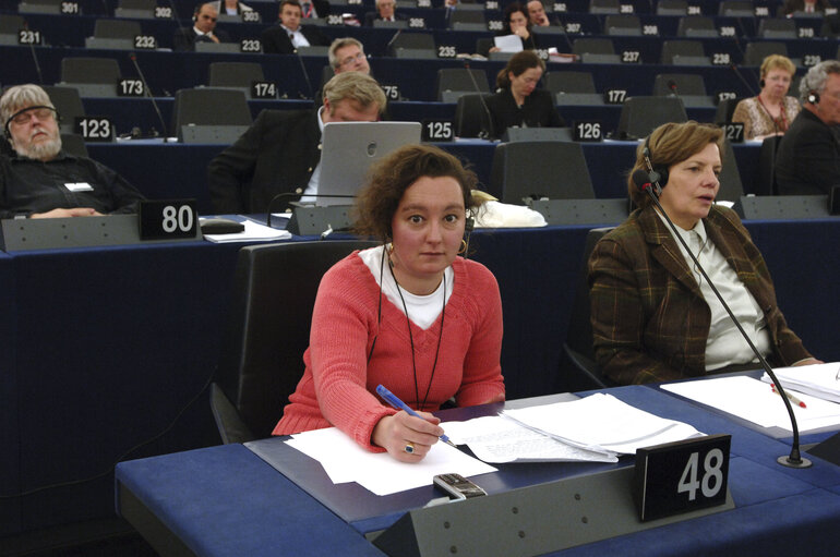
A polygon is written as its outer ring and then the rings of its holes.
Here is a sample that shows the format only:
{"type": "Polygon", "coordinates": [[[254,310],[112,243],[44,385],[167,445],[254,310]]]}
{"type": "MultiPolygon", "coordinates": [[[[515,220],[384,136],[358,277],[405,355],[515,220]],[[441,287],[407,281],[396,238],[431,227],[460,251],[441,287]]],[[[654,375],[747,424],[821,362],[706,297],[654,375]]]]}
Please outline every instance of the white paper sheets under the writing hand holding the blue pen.
{"type": "Polygon", "coordinates": [[[321,462],[333,483],[357,482],[376,495],[431,485],[436,474],[469,477],[496,471],[445,443],[435,444],[420,462],[400,462],[386,452],[364,450],[335,427],[297,434],[286,443],[321,462]]]}

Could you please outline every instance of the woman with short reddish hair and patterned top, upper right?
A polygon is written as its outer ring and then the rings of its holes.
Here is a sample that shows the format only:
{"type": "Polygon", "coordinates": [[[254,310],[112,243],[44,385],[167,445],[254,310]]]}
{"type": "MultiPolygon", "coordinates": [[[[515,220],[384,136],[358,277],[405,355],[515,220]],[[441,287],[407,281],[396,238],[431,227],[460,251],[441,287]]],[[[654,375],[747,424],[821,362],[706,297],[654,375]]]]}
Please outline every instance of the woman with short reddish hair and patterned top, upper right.
{"type": "Polygon", "coordinates": [[[764,140],[788,131],[800,113],[800,101],[788,96],[796,66],[789,58],[770,55],[761,62],[761,90],[740,101],[732,113],[733,122],[743,122],[745,140],[764,140]]]}

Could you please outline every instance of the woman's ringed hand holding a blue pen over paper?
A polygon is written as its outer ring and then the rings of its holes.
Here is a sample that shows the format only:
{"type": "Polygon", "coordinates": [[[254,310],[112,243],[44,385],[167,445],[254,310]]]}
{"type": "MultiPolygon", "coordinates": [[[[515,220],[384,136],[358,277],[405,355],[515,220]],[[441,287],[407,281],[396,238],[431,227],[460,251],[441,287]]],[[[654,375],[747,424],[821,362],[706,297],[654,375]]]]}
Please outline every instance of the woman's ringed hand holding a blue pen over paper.
{"type": "Polygon", "coordinates": [[[383,417],[373,431],[373,441],[387,449],[394,458],[404,462],[417,462],[429,452],[437,438],[455,446],[437,426],[436,417],[419,414],[382,385],[376,388],[376,392],[388,404],[405,412],[383,417]]]}

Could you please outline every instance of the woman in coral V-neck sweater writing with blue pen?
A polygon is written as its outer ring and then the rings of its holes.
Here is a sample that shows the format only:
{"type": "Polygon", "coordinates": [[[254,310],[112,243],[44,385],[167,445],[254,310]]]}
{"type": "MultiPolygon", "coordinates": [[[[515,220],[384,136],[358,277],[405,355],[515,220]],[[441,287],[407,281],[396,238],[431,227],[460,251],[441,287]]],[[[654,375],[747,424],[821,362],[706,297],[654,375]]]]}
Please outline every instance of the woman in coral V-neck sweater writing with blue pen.
{"type": "Polygon", "coordinates": [[[312,313],[305,372],[274,435],[336,426],[371,451],[420,461],[444,431],[429,412],[504,400],[502,301],[493,275],[458,257],[476,175],[427,145],[376,164],[359,233],[383,245],[329,269],[312,313]],[[396,411],[384,385],[421,413],[396,411]]]}

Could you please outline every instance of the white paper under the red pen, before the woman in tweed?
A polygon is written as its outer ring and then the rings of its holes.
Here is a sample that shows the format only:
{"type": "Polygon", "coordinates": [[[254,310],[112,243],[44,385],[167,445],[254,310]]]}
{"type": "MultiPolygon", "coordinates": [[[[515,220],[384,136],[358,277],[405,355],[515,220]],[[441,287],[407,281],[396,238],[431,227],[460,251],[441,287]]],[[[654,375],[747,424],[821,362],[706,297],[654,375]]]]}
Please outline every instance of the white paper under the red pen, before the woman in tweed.
{"type": "MultiPolygon", "coordinates": [[[[736,415],[761,427],[781,427],[791,432],[791,421],[784,402],[766,383],[752,377],[719,377],[698,382],[663,385],[663,390],[696,400],[736,415]]],[[[807,408],[793,404],[800,432],[840,424],[840,404],[801,392],[792,392],[807,408]]]]}

